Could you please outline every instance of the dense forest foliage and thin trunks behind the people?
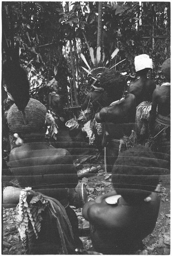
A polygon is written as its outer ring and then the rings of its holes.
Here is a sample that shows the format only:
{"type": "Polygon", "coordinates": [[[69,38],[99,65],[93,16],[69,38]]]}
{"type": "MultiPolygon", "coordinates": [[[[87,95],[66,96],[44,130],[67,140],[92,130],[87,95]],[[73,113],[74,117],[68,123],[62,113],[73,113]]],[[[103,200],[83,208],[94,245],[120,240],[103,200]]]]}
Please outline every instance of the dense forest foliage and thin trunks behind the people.
{"type": "Polygon", "coordinates": [[[93,68],[90,47],[94,55],[101,47],[98,66],[125,59],[115,68],[128,79],[135,73],[134,57],[148,54],[154,62],[150,75],[157,85],[163,81],[161,64],[170,57],[170,2],[2,2],[2,31],[3,60],[18,42],[20,64],[39,80],[33,97],[46,104],[46,85],[55,78],[65,105],[76,106],[89,90],[80,53],[93,68]]]}

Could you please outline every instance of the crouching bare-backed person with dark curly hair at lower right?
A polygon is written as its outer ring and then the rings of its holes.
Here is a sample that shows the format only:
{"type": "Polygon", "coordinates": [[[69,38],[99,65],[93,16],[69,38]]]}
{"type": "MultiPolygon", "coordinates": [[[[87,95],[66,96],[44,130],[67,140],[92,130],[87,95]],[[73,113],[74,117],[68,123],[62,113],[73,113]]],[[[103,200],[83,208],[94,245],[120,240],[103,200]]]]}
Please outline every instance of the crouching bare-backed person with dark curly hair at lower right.
{"type": "Polygon", "coordinates": [[[159,175],[169,174],[167,164],[139,145],[118,157],[112,170],[113,190],[82,209],[90,222],[93,250],[103,254],[143,250],[142,240],[153,232],[158,218],[160,198],[154,189],[159,175]]]}

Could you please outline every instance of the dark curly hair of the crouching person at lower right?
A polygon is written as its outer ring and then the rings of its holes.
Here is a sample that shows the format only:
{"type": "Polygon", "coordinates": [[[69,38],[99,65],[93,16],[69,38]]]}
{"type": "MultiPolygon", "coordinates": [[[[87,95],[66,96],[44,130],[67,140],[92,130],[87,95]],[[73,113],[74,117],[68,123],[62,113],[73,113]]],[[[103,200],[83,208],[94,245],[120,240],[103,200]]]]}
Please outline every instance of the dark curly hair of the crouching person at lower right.
{"type": "MultiPolygon", "coordinates": [[[[120,194],[122,189],[136,189],[147,191],[148,196],[155,190],[159,175],[163,174],[169,174],[168,161],[157,159],[148,147],[137,145],[124,151],[116,160],[112,183],[115,190],[120,189],[120,194]]],[[[130,200],[127,194],[123,197],[130,200]]]]}

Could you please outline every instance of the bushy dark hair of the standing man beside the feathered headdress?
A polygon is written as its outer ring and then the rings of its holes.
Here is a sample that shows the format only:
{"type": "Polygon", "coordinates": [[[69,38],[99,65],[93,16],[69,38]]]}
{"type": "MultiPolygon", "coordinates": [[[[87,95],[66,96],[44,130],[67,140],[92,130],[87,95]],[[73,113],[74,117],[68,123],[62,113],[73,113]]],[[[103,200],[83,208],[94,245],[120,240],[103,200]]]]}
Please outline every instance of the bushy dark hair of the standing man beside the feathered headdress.
{"type": "Polygon", "coordinates": [[[107,92],[110,103],[122,97],[126,89],[126,77],[115,70],[104,71],[100,78],[100,87],[107,92]]]}

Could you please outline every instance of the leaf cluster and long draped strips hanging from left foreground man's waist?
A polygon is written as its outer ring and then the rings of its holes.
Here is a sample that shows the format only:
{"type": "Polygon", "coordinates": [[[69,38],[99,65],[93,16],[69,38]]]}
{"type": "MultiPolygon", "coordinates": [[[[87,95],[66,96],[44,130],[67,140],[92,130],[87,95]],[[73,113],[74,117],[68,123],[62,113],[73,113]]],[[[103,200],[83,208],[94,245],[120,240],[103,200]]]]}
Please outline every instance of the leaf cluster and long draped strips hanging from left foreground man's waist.
{"type": "MultiPolygon", "coordinates": [[[[65,208],[60,202],[54,198],[35,192],[30,188],[21,191],[19,203],[17,205],[18,231],[24,246],[28,249],[28,245],[36,243],[41,232],[42,212],[49,212],[48,218],[55,219],[56,229],[58,230],[61,248],[63,254],[74,252],[74,237],[72,226],[67,216],[65,208]]],[[[51,225],[50,225],[51,226],[51,225]]],[[[49,226],[49,229],[51,229],[49,226]]],[[[43,230],[44,232],[51,232],[51,230],[43,230]]],[[[43,232],[42,231],[42,232],[43,232]]],[[[43,236],[46,234],[43,234],[43,236]]],[[[72,253],[73,254],[73,253],[72,253]]]]}

